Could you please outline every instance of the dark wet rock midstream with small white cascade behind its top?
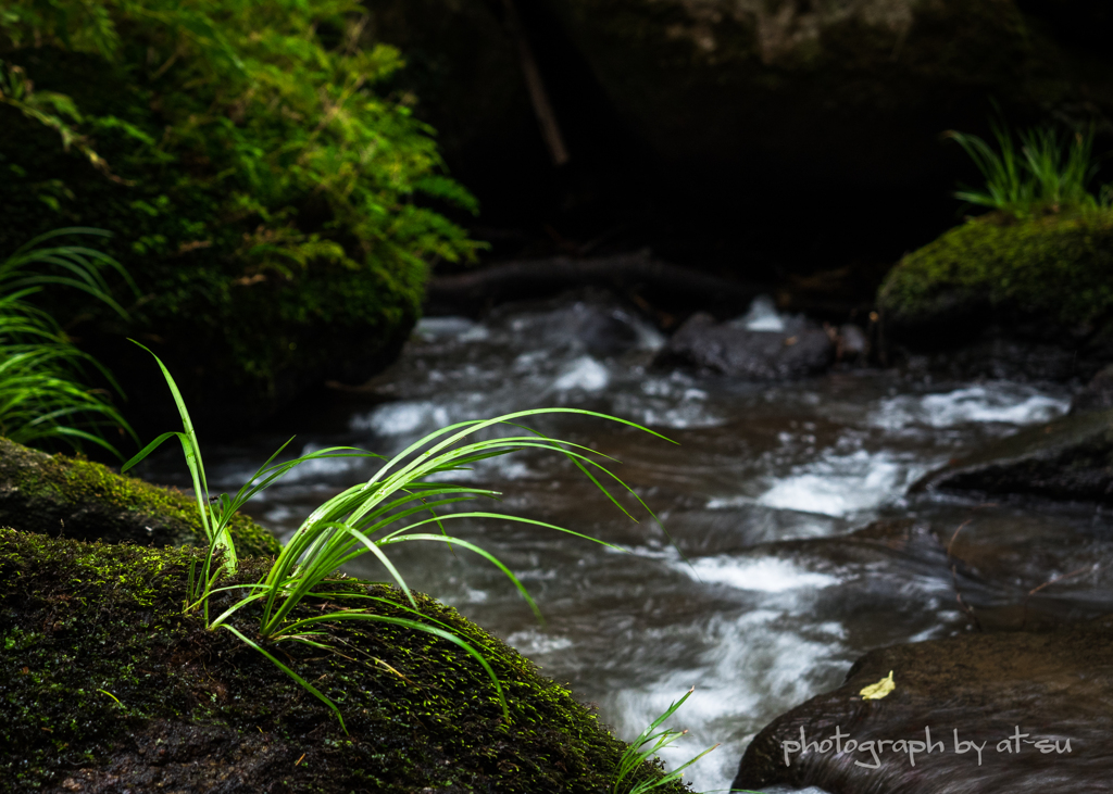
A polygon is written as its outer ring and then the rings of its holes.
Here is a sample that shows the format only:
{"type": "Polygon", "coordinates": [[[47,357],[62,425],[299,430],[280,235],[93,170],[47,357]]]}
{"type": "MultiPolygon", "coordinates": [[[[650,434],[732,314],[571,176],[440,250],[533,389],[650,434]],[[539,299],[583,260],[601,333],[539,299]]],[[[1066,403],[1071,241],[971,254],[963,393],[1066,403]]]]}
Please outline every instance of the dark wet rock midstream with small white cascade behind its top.
{"type": "Polygon", "coordinates": [[[658,361],[752,380],[780,380],[821,373],[834,354],[827,331],[805,319],[785,320],[781,330],[751,330],[739,322],[717,324],[699,312],[677,330],[658,361]]]}

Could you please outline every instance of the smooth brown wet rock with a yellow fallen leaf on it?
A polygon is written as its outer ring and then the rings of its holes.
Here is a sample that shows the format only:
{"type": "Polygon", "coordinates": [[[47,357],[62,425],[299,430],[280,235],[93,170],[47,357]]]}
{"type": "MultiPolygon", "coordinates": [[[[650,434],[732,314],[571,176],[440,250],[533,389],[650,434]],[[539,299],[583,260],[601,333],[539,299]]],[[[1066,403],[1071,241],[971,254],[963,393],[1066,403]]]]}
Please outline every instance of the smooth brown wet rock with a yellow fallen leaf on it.
{"type": "Polygon", "coordinates": [[[1113,778],[1111,701],[1107,619],[1044,634],[967,634],[897,645],[866,654],[841,687],[761,731],[733,786],[815,785],[833,794],[1096,794],[1113,778]],[[890,671],[890,694],[875,701],[859,695],[890,671]],[[826,742],[836,732],[838,744],[826,742]],[[876,757],[864,747],[868,742],[875,743],[876,757]]]}

